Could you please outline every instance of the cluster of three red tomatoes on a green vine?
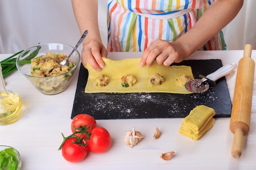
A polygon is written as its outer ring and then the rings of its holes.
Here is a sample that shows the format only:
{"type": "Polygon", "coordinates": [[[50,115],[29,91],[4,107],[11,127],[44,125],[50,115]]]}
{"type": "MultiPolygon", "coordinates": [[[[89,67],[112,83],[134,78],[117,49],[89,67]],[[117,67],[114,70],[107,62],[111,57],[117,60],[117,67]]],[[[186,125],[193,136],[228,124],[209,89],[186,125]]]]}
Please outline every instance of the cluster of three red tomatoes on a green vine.
{"type": "Polygon", "coordinates": [[[72,134],[64,137],[58,150],[69,162],[79,162],[88,150],[94,153],[106,152],[111,145],[111,137],[103,127],[97,126],[95,119],[87,114],[75,116],[71,122],[72,134]]]}

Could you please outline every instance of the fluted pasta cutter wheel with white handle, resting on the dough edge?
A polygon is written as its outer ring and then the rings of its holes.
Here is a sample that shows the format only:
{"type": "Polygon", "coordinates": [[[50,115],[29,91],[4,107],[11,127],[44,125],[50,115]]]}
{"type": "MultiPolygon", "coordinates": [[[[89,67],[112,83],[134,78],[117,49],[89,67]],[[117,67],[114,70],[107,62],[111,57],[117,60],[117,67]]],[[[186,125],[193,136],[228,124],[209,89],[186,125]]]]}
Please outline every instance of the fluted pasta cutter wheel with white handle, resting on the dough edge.
{"type": "Polygon", "coordinates": [[[203,75],[199,75],[201,79],[192,79],[186,82],[185,88],[188,91],[193,93],[204,93],[209,89],[209,84],[212,86],[216,85],[216,80],[219,78],[229,74],[236,68],[235,63],[228,64],[226,66],[220,67],[217,71],[207,75],[206,77],[203,75]]]}

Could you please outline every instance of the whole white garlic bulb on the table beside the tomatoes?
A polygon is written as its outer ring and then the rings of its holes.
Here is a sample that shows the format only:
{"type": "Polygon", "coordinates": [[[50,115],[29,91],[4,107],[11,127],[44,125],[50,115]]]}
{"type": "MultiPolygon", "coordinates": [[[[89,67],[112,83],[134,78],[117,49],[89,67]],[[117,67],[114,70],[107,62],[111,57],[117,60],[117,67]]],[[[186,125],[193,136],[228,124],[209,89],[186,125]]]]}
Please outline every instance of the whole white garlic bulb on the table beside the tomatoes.
{"type": "Polygon", "coordinates": [[[126,145],[129,145],[130,147],[133,147],[137,145],[143,138],[141,132],[135,131],[135,127],[131,130],[126,131],[124,135],[124,142],[126,145]]]}

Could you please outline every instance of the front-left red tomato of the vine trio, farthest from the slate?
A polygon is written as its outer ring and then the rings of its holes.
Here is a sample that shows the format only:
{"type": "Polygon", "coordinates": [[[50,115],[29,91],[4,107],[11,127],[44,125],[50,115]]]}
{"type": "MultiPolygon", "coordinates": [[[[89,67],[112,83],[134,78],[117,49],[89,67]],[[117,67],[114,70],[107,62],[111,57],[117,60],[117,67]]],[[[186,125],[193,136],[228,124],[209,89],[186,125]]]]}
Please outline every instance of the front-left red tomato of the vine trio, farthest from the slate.
{"type": "MultiPolygon", "coordinates": [[[[79,145],[76,143],[71,144],[76,141],[76,137],[71,137],[70,139],[67,139],[61,149],[64,159],[73,163],[82,161],[87,155],[87,149],[84,145],[79,145]]],[[[84,144],[83,141],[81,143],[84,144]]]]}

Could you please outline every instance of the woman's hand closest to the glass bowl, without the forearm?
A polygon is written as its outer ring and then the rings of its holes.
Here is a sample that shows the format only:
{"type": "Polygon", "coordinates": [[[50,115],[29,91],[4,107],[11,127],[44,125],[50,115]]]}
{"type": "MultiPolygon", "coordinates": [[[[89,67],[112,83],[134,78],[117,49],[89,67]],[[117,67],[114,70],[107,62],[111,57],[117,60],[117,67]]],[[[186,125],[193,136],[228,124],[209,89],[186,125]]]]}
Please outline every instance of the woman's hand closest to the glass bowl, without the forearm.
{"type": "Polygon", "coordinates": [[[107,58],[108,51],[105,46],[99,40],[91,40],[90,42],[83,44],[81,61],[83,66],[86,66],[87,62],[97,71],[101,71],[101,68],[105,66],[102,57],[107,58]]]}

